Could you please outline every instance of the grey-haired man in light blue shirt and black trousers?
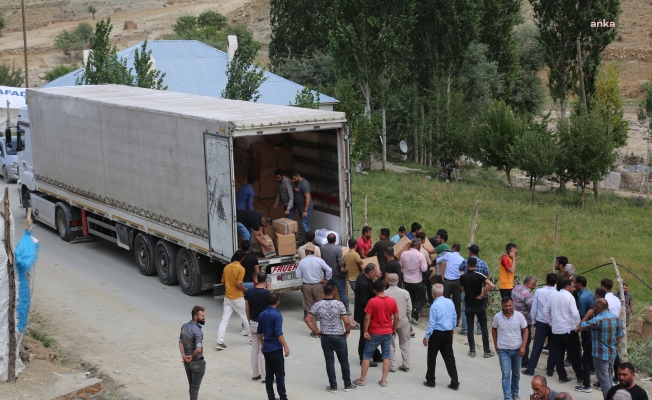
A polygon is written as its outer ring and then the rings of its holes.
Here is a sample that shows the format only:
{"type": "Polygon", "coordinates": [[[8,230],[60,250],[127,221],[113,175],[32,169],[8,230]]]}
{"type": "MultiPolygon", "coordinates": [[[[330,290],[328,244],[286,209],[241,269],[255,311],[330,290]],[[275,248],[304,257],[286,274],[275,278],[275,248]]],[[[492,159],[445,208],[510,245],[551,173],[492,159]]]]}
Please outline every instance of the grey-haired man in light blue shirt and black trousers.
{"type": "Polygon", "coordinates": [[[435,387],[435,365],[437,353],[441,351],[441,356],[446,363],[446,371],[451,378],[448,387],[457,390],[460,387],[460,382],[457,380],[457,367],[453,353],[453,335],[457,322],[455,305],[451,299],[444,297],[444,286],[441,283],[433,285],[432,294],[435,301],[430,306],[430,321],[428,321],[426,335],[423,338],[423,345],[428,348],[428,372],[426,372],[426,380],[423,384],[435,387]]]}

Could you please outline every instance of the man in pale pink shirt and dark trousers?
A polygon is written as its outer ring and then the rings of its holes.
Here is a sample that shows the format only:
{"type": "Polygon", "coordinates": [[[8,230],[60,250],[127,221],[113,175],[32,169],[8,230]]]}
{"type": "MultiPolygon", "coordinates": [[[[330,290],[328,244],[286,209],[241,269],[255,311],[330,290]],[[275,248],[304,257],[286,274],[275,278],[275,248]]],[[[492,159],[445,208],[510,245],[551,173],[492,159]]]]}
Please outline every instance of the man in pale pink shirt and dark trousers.
{"type": "Polygon", "coordinates": [[[412,247],[401,253],[401,267],[403,268],[403,286],[410,293],[412,301],[412,320],[419,321],[421,307],[426,300],[426,287],[423,284],[423,273],[428,269],[426,257],[419,251],[421,240],[413,239],[412,247]]]}

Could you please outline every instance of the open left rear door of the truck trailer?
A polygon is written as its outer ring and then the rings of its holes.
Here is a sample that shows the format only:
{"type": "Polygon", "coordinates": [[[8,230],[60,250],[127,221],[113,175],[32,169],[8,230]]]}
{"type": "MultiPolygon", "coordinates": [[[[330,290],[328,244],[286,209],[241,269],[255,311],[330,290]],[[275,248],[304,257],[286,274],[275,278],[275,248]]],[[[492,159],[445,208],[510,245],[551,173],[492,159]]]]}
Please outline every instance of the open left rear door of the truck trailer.
{"type": "Polygon", "coordinates": [[[230,259],[235,252],[235,192],[231,138],[204,133],[210,251],[230,259]]]}

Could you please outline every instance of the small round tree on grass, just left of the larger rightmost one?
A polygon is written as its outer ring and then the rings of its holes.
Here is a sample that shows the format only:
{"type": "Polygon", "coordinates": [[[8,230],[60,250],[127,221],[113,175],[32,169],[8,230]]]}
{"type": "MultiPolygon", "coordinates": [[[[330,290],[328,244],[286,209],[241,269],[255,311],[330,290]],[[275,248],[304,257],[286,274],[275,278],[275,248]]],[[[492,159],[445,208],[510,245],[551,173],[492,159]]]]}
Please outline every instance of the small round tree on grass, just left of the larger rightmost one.
{"type": "Polygon", "coordinates": [[[555,172],[557,161],[557,143],[550,129],[548,118],[540,122],[531,114],[521,118],[522,134],[516,138],[510,153],[516,167],[525,171],[530,177],[532,204],[537,181],[555,172]]]}

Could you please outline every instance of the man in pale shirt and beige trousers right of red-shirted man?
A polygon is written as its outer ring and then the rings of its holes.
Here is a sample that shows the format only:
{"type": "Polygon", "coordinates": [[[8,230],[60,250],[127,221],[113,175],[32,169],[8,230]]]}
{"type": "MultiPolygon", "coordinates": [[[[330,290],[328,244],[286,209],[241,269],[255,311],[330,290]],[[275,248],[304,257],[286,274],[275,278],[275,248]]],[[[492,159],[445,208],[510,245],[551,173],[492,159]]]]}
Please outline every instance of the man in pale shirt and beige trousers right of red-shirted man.
{"type": "MultiPolygon", "coordinates": [[[[401,357],[403,358],[403,364],[398,369],[407,372],[410,370],[410,315],[412,314],[412,301],[410,300],[410,293],[398,287],[399,279],[397,274],[387,274],[387,277],[389,288],[385,290],[385,294],[396,300],[398,306],[399,320],[396,327],[396,336],[398,336],[398,345],[401,348],[401,357]]],[[[392,337],[389,370],[391,372],[396,371],[396,337],[392,337]]]]}

